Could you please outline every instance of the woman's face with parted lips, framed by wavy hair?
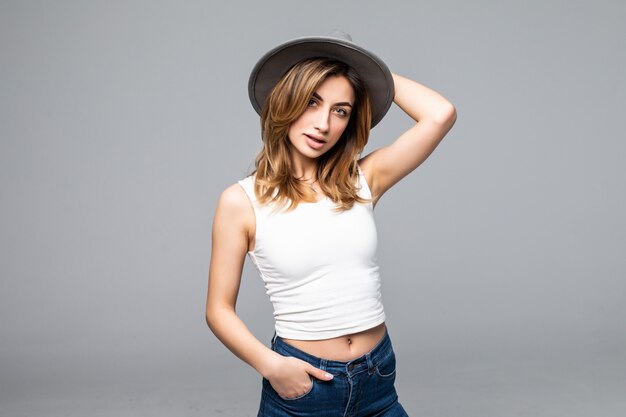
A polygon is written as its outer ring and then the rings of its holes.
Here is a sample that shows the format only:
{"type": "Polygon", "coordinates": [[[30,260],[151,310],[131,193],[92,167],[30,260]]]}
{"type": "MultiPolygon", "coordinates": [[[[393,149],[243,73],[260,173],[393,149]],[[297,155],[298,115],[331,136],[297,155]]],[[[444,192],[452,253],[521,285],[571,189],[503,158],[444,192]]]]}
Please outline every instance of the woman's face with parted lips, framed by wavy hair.
{"type": "Polygon", "coordinates": [[[335,146],[348,126],[353,106],[354,90],[348,79],[328,77],[289,127],[294,157],[317,159],[335,146]]]}

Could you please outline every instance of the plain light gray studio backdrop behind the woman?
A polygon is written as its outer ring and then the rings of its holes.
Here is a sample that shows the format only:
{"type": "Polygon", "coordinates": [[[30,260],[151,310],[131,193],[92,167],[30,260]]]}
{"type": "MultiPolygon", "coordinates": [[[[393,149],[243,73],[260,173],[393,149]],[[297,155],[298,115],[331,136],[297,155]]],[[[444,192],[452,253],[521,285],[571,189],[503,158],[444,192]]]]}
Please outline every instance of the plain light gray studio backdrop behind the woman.
{"type": "MultiPolygon", "coordinates": [[[[0,415],[255,415],[204,323],[212,213],[260,146],[250,69],[334,28],[459,114],[376,209],[409,414],[625,415],[625,27],[617,0],[2,1],[0,415]]],[[[269,341],[249,264],[238,311],[269,341]]]]}

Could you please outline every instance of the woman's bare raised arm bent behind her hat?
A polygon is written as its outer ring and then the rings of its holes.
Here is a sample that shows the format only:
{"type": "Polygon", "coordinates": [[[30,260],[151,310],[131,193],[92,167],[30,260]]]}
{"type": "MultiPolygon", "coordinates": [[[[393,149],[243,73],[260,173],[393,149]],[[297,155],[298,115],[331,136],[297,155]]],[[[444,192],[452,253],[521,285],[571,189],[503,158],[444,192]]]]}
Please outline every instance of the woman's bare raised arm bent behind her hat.
{"type": "Polygon", "coordinates": [[[393,101],[416,123],[391,145],[359,161],[374,203],[424,162],[456,121],[456,109],[445,97],[408,78],[392,75],[393,101]]]}

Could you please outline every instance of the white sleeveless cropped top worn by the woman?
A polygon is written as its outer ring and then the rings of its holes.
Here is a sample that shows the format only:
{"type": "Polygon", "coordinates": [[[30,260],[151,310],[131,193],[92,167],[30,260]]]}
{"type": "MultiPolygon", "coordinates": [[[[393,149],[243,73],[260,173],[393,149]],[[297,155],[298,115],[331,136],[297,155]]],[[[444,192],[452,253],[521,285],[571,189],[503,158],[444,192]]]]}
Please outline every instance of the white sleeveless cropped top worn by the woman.
{"type": "MultiPolygon", "coordinates": [[[[274,307],[276,334],[321,340],[352,334],[385,321],[377,234],[371,203],[336,211],[328,197],[292,211],[261,205],[254,177],[239,181],[256,217],[258,270],[274,307]]],[[[359,171],[359,195],[371,198],[359,171]]]]}

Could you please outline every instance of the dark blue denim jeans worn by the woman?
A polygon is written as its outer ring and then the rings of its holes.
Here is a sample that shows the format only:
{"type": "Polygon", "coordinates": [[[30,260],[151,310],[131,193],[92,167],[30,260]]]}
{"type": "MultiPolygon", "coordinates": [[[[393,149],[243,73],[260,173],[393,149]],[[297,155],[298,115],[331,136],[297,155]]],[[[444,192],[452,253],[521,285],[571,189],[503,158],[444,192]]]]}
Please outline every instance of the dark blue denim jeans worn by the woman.
{"type": "Polygon", "coordinates": [[[311,390],[293,399],[280,397],[263,378],[257,417],[408,417],[394,387],[396,356],[388,334],[369,353],[350,362],[317,358],[277,336],[272,340],[272,350],[302,359],[334,378],[313,378],[311,390]]]}

